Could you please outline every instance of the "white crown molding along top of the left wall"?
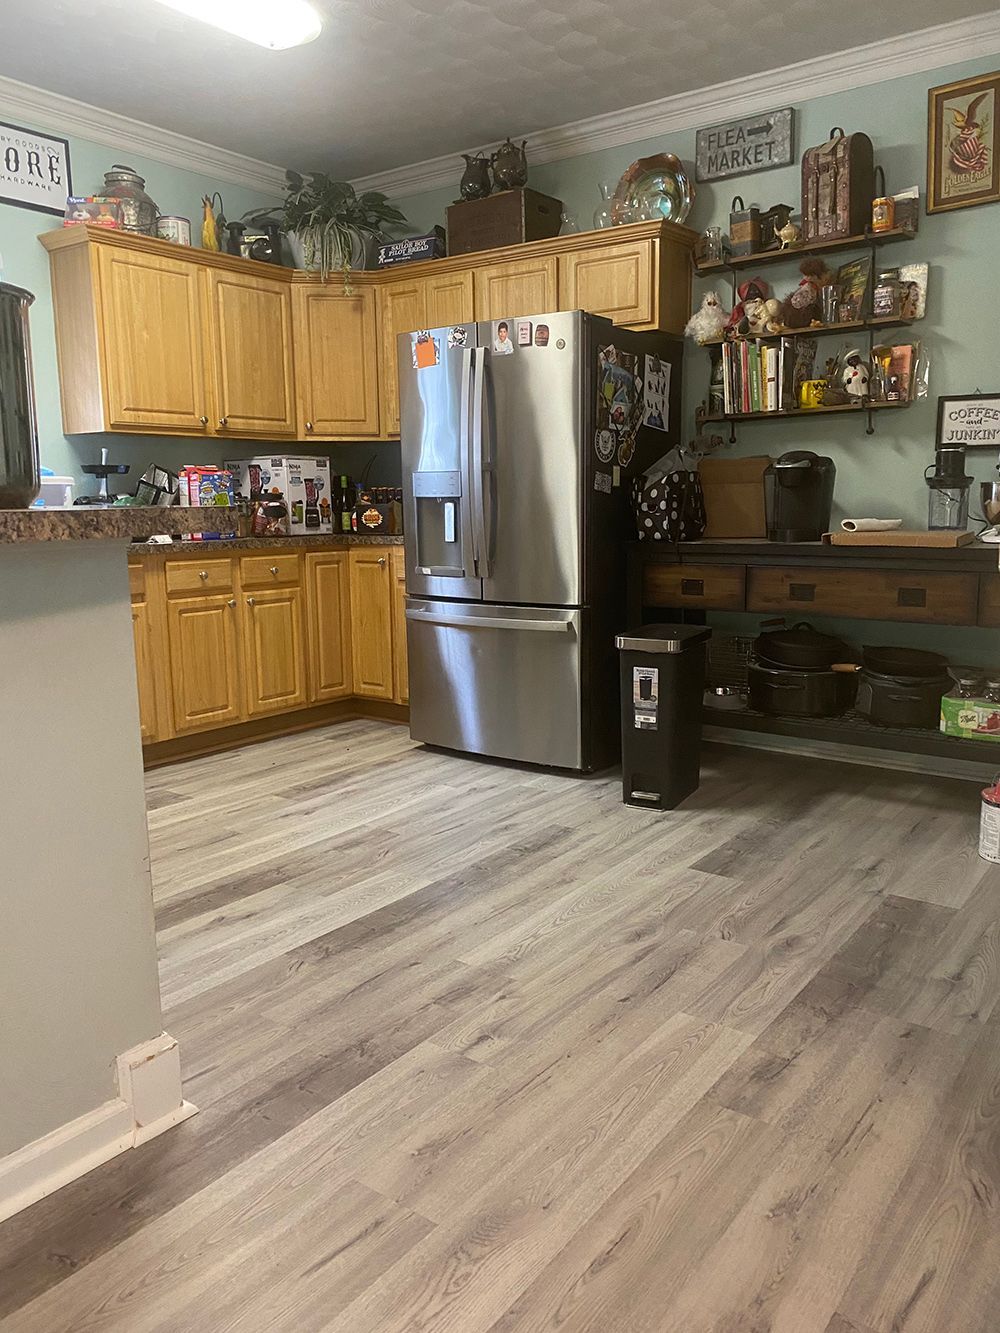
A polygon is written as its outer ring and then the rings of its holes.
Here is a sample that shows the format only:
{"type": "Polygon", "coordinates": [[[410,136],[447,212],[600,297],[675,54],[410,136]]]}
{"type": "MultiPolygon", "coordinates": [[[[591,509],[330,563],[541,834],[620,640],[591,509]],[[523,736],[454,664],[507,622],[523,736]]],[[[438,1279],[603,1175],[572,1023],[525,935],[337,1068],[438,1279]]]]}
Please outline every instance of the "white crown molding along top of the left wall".
{"type": "Polygon", "coordinates": [[[113,111],[91,107],[73,97],[63,97],[57,92],[32,88],[0,75],[0,115],[36,124],[52,133],[88,139],[95,144],[107,144],[125,156],[128,152],[155,161],[193,171],[209,180],[245,185],[248,189],[265,191],[272,196],[283,196],[285,173],[280,167],[233,153],[228,148],[203,144],[187,135],[175,135],[169,129],[147,125],[143,120],[119,116],[113,111]]]}

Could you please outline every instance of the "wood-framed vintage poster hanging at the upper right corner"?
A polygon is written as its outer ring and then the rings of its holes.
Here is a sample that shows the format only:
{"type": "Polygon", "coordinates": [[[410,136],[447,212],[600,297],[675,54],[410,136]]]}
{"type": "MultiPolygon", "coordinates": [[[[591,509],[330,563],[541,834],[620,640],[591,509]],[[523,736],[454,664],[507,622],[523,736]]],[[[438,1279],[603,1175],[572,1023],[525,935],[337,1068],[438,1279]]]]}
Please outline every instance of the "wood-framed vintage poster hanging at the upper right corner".
{"type": "Polygon", "coordinates": [[[941,84],[927,95],[927,211],[1000,200],[996,117],[1000,71],[941,84]]]}

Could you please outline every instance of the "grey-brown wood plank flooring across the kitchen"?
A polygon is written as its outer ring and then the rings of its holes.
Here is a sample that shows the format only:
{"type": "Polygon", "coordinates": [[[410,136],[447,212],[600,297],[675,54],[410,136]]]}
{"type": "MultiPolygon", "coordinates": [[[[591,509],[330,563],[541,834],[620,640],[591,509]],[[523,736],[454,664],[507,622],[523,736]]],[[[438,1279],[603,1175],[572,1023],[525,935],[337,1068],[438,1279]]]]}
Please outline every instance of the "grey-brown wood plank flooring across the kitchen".
{"type": "Polygon", "coordinates": [[[0,1226],[0,1328],[997,1333],[971,784],[680,810],[359,721],[148,776],[200,1114],[0,1226]]]}

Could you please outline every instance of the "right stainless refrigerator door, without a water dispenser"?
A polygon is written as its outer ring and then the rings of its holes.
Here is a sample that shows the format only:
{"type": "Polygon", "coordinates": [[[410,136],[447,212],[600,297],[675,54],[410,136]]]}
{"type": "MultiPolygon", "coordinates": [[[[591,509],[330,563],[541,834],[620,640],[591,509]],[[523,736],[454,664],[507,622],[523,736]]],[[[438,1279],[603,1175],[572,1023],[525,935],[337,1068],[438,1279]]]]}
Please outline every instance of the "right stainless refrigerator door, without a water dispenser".
{"type": "Polygon", "coordinates": [[[477,476],[487,563],[483,597],[489,603],[579,607],[584,601],[583,480],[585,324],[580,311],[532,316],[532,341],[519,345],[517,327],[507,319],[512,348],[493,351],[499,321],[479,325],[485,369],[484,415],[475,411],[472,445],[483,436],[477,476]],[[548,327],[544,345],[535,331],[548,327]],[[561,347],[560,347],[561,344],[561,347]],[[483,351],[485,349],[485,351],[483,351]],[[488,565],[488,568],[487,568],[488,565]]]}

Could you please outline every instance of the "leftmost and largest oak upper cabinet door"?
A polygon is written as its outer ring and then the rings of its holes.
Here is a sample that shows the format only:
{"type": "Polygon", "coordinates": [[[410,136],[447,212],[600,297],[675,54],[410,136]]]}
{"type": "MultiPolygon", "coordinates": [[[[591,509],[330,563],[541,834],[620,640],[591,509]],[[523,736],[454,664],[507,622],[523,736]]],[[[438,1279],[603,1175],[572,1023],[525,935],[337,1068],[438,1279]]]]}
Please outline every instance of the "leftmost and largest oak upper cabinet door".
{"type": "Polygon", "coordinates": [[[204,435],[212,407],[200,268],[111,247],[97,263],[108,429],[204,435]]]}

